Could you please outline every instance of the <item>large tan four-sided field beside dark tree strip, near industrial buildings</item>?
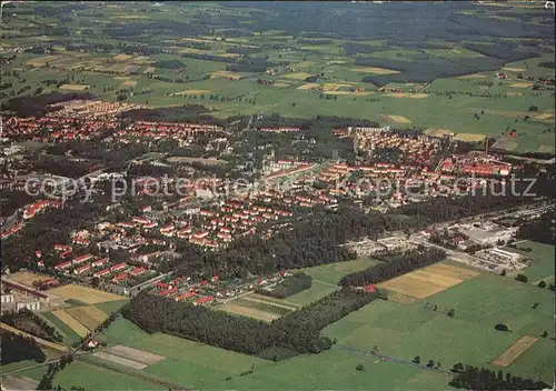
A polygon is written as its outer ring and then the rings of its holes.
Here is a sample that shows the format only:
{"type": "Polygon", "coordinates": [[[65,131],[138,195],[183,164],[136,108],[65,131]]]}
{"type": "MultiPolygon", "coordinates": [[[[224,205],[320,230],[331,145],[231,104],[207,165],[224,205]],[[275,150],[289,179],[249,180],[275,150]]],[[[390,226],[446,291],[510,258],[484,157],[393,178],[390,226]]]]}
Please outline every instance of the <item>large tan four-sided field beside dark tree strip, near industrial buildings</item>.
{"type": "Polygon", "coordinates": [[[424,299],[477,275],[478,271],[438,263],[385,281],[378,287],[403,295],[424,299]]]}

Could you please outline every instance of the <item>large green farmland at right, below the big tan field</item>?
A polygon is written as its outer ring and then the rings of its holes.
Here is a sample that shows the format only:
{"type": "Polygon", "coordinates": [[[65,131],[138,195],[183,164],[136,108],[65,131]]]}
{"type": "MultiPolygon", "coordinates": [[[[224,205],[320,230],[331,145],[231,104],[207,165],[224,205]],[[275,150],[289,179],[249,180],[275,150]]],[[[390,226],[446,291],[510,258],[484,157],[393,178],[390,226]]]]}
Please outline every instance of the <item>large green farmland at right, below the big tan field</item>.
{"type": "Polygon", "coordinates": [[[340,344],[360,350],[376,345],[379,353],[406,360],[420,355],[441,362],[443,368],[463,362],[496,370],[500,368],[490,361],[520,337],[533,335],[539,340],[532,351],[507,371],[552,381],[553,311],[553,292],[485,274],[415,304],[376,301],[330,324],[324,333],[340,344]],[[540,303],[536,310],[532,309],[535,302],[540,303]],[[426,309],[427,303],[438,310],[426,309]],[[448,309],[455,309],[454,318],[446,314],[448,309]],[[497,323],[512,331],[496,331],[497,323]],[[548,338],[540,338],[544,330],[548,338]]]}

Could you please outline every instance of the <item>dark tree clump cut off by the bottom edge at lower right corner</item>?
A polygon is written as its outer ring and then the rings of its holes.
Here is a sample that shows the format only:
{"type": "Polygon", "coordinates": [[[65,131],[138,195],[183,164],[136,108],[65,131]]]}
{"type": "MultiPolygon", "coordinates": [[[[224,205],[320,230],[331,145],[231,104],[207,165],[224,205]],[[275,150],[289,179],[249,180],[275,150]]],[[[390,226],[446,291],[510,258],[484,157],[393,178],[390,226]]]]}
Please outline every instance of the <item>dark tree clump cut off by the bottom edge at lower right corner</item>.
{"type": "Polygon", "coordinates": [[[465,390],[549,390],[552,385],[532,379],[514,377],[510,373],[495,372],[486,368],[457,363],[451,369],[456,372],[449,385],[465,390]]]}

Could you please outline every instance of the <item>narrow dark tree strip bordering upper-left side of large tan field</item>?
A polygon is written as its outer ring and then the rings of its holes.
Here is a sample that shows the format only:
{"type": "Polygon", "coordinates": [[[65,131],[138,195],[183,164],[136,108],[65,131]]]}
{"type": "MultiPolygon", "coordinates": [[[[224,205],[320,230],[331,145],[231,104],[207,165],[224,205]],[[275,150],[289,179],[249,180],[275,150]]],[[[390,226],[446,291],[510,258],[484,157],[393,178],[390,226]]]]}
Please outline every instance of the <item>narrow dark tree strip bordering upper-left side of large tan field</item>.
{"type": "Polygon", "coordinates": [[[383,282],[441,261],[445,257],[446,252],[443,250],[434,247],[425,248],[419,244],[416,250],[378,257],[385,263],[345,275],[339,283],[342,287],[363,287],[383,282]]]}

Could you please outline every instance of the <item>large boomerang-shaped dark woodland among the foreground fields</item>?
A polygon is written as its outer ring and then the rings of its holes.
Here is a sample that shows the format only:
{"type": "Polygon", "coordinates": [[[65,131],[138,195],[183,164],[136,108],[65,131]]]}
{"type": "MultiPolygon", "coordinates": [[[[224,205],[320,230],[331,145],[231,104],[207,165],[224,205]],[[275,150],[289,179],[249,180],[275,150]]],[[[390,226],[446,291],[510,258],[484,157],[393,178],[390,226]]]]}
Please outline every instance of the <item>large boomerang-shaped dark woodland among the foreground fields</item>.
{"type": "Polygon", "coordinates": [[[176,334],[246,354],[284,350],[291,355],[292,351],[318,353],[330,349],[331,341],[320,337],[320,330],[376,299],[376,294],[344,289],[266,323],[141,292],[122,314],[149,333],[176,334]]]}

